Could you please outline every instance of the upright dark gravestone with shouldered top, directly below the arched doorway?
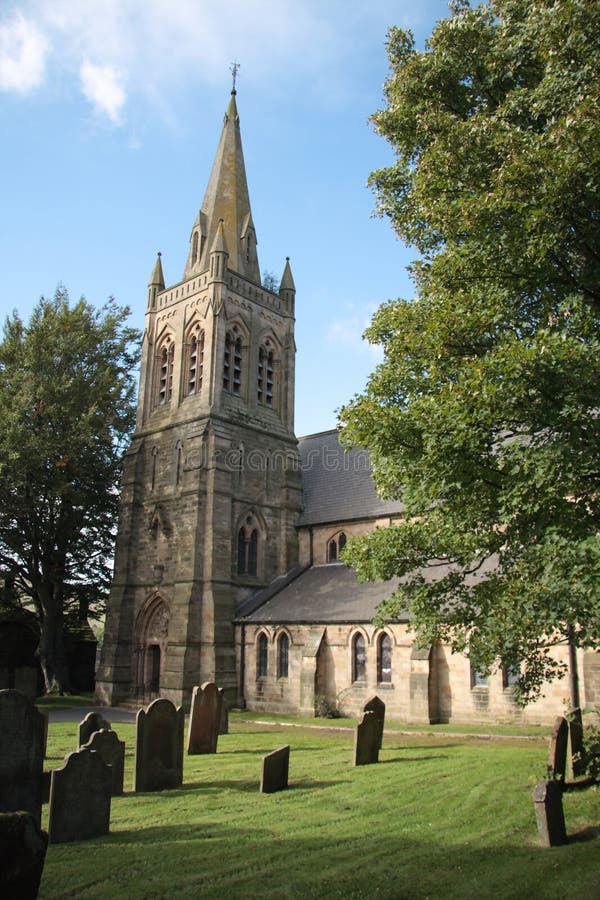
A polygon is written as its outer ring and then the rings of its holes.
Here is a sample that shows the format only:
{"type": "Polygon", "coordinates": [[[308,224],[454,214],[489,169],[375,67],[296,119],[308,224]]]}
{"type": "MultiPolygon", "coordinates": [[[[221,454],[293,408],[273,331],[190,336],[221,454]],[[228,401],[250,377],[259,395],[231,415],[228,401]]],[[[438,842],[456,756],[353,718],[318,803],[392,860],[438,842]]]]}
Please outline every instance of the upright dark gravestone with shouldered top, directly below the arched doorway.
{"type": "Polygon", "coordinates": [[[138,710],[134,791],[162,791],[183,783],[183,707],[159,697],[138,710]]]}

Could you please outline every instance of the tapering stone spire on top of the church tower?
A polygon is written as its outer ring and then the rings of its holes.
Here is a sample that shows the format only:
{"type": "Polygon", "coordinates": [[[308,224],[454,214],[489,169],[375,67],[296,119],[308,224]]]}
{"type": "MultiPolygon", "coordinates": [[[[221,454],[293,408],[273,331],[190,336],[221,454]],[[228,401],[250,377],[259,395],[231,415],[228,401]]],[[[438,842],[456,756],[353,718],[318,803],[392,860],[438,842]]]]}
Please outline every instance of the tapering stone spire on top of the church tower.
{"type": "Polygon", "coordinates": [[[234,83],[208,187],[192,228],[184,279],[208,268],[209,254],[222,219],[229,251],[229,268],[260,284],[256,232],[250,209],[235,98],[234,83]]]}

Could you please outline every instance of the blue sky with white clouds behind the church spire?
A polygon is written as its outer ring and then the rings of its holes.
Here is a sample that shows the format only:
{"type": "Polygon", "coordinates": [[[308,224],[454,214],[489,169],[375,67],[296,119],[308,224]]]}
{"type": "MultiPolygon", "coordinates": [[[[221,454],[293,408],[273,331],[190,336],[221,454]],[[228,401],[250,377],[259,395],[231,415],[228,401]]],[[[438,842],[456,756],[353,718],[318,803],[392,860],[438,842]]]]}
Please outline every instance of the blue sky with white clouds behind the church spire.
{"type": "Polygon", "coordinates": [[[143,329],[157,251],[181,280],[231,90],[261,272],[296,284],[296,433],[334,428],[381,359],[362,334],[412,297],[374,216],[393,162],[386,33],[422,47],[446,0],[0,0],[0,320],[63,285],[143,329]]]}

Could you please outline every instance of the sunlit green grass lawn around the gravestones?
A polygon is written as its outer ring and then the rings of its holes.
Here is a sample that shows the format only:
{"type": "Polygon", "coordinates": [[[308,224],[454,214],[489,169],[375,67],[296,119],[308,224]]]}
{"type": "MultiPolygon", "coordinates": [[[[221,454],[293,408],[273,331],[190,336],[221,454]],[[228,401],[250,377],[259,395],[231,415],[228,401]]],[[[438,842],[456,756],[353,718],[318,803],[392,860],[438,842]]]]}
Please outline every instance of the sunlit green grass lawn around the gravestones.
{"type": "MultiPolygon", "coordinates": [[[[51,723],[47,769],[76,729],[51,723]]],[[[135,726],[115,730],[130,791],[135,726]]],[[[598,788],[565,796],[567,846],[538,844],[547,741],[386,734],[380,763],[359,768],[352,746],[351,732],[234,716],[216,755],[185,757],[182,788],[113,798],[108,836],[50,845],[39,896],[600,896],[598,788]],[[286,743],[289,790],[260,794],[261,757],[286,743]]]]}

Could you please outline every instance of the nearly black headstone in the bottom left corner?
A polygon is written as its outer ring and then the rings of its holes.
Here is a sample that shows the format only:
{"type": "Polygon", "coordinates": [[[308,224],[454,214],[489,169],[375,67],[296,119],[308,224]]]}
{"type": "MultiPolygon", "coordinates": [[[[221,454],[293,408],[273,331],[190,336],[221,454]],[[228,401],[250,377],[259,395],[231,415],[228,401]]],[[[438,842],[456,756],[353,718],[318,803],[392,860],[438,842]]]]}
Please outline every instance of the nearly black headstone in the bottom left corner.
{"type": "Polygon", "coordinates": [[[0,813],[0,896],[35,900],[47,846],[48,835],[31,813],[0,813]]]}

